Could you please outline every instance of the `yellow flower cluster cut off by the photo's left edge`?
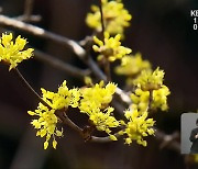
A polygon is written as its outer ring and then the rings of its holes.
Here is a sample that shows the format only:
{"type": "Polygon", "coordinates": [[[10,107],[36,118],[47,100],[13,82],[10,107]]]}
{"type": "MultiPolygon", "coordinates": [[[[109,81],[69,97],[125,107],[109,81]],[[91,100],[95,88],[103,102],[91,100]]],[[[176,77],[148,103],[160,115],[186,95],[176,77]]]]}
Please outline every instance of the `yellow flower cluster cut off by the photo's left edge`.
{"type": "Polygon", "coordinates": [[[26,40],[22,38],[20,35],[12,41],[12,33],[2,34],[0,40],[0,61],[3,60],[10,65],[9,70],[15,68],[24,59],[29,59],[33,55],[33,48],[28,48],[23,50],[26,40]]]}

